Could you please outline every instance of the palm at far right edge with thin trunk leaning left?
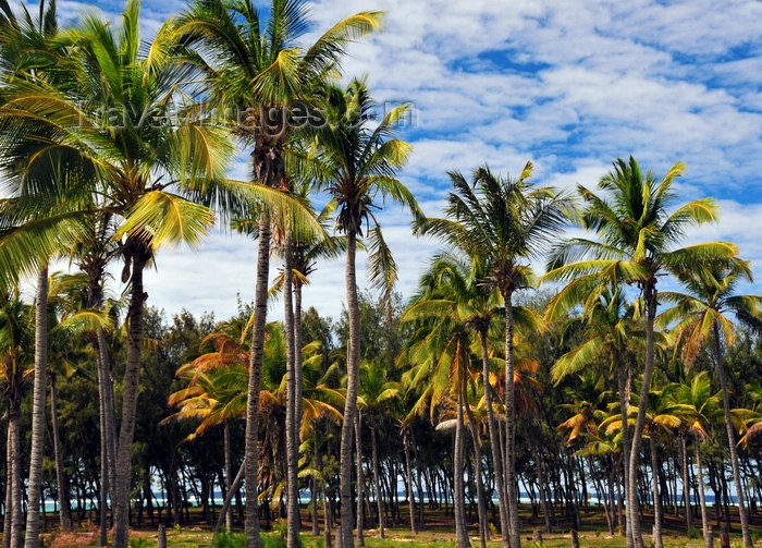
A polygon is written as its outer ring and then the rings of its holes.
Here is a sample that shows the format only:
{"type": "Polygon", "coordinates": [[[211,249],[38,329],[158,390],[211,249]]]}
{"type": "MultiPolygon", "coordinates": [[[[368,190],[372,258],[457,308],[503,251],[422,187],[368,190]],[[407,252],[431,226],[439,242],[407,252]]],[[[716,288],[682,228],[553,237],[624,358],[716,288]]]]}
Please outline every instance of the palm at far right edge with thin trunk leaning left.
{"type": "Polygon", "coordinates": [[[730,416],[730,399],[722,344],[724,341],[726,348],[730,348],[735,340],[735,325],[728,317],[730,315],[757,330],[762,329],[762,296],[735,294],[739,282],[752,281],[749,263],[736,258],[723,263],[693,265],[690,269],[678,272],[677,279],[687,293],[663,292],[660,294],[663,302],[675,304],[674,308],[661,315],[660,321],[664,325],[671,325],[679,320],[674,327],[674,331],[681,343],[683,358],[688,366],[696,361],[700,350],[711,340],[714,364],[723,394],[725,429],[730,449],[730,465],[743,544],[751,546],[749,516],[738,470],[736,433],[730,416]]]}

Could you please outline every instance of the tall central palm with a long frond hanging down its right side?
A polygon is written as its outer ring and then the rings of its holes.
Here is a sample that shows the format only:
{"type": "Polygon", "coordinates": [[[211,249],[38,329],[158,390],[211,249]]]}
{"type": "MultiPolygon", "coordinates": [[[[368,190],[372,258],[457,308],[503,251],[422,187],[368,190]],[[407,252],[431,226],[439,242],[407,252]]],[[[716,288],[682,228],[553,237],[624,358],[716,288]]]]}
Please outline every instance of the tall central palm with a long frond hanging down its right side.
{"type": "Polygon", "coordinates": [[[336,228],[346,236],[346,308],[349,339],[346,358],[347,387],[340,449],[342,547],[352,548],[352,445],[357,415],[361,350],[356,256],[365,238],[371,284],[391,297],[396,265],[383,239],[373,208],[376,199],[391,198],[422,217],[413,194],[396,179],[411,151],[409,144],[392,138],[406,108],[392,109],[371,125],[374,109],[365,81],[354,80],[346,89],[330,87],[325,97],[327,123],[317,135],[318,171],[324,190],[336,200],[336,228]],[[362,226],[369,226],[364,233],[362,226]]]}

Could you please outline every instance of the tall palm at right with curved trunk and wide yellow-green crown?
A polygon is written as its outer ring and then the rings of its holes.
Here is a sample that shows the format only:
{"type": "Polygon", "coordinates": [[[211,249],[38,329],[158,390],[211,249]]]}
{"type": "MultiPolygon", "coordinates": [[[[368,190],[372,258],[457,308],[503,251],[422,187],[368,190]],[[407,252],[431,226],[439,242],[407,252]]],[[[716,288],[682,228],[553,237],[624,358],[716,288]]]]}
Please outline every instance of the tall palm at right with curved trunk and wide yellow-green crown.
{"type": "MultiPolygon", "coordinates": [[[[669,214],[676,197],[675,180],[685,165],[675,163],[663,179],[653,171],[646,174],[630,157],[618,159],[614,170],[598,184],[603,197],[578,185],[586,202],[579,219],[582,228],[598,240],[577,238],[561,242],[548,259],[550,270],[544,280],[570,282],[562,293],[573,294],[585,285],[592,291],[614,289],[625,283],[637,285],[642,294],[646,316],[646,363],[640,400],[646,401],[654,366],[654,318],[656,317],[657,277],[665,272],[687,270],[716,256],[732,256],[736,246],[714,242],[676,248],[687,228],[716,220],[717,206],[711,198],[690,202],[669,214]]],[[[563,296],[561,299],[564,299],[563,296]]],[[[637,548],[642,548],[642,534],[637,513],[637,475],[640,446],[646,426],[646,406],[638,410],[629,453],[627,486],[628,534],[637,548]]]]}

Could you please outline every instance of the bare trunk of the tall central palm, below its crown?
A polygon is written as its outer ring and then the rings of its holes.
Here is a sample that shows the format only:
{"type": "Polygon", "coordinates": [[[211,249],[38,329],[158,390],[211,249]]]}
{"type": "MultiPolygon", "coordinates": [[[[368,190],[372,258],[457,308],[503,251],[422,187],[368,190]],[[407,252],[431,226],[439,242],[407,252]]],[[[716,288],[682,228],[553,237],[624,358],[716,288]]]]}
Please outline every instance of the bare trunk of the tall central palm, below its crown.
{"type": "Polygon", "coordinates": [[[349,340],[346,353],[346,400],[344,403],[344,422],[342,440],[339,449],[341,483],[341,548],[354,548],[352,535],[352,438],[357,414],[357,391],[360,376],[360,317],[357,297],[357,271],[355,260],[357,241],[354,232],[347,233],[346,242],[346,309],[349,324],[349,340]]]}

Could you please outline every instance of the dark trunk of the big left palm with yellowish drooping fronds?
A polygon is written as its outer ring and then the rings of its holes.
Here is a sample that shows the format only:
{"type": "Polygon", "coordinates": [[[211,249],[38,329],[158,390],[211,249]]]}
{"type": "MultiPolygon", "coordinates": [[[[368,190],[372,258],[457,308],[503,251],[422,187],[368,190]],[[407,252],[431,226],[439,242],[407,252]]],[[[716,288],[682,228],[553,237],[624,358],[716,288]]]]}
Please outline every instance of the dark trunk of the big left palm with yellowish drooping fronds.
{"type": "MultiPolygon", "coordinates": [[[[127,244],[130,245],[130,244],[127,244]]],[[[114,548],[127,548],[130,536],[130,485],[132,480],[132,450],[135,433],[140,354],[143,352],[143,307],[147,293],[143,291],[143,269],[148,251],[140,244],[132,257],[130,307],[127,309],[127,363],[124,370],[122,422],[116,448],[116,483],[113,486],[114,548]]]]}

